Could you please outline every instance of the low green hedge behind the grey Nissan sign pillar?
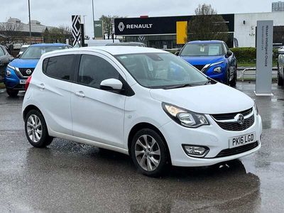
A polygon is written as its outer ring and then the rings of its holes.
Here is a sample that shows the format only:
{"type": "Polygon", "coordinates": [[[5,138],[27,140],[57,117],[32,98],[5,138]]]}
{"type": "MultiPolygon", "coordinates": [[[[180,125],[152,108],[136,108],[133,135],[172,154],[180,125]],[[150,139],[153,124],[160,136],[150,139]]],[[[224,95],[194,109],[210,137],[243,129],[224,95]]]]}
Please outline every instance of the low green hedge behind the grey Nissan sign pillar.
{"type": "MultiPolygon", "coordinates": [[[[238,62],[256,62],[256,48],[231,48],[238,62]]],[[[273,61],[278,57],[278,50],[273,49],[273,61]]]]}

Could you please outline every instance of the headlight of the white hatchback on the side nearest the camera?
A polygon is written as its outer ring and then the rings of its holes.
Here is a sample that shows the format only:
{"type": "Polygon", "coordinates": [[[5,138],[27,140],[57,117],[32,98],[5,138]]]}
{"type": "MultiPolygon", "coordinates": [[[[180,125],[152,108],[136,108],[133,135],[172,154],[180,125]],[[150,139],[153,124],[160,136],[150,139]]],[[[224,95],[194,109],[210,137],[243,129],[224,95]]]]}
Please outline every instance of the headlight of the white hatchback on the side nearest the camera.
{"type": "Polygon", "coordinates": [[[199,126],[209,125],[209,121],[204,114],[188,111],[172,104],[163,103],[162,107],[170,118],[182,126],[197,128],[199,126]]]}

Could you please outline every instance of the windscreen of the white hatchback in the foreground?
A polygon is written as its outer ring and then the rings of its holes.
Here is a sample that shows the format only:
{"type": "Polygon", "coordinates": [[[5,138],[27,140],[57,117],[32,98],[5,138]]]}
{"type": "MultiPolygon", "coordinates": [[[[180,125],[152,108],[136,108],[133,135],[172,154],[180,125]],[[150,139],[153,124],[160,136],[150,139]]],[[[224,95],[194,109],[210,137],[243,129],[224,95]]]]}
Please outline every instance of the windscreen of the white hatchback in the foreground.
{"type": "Polygon", "coordinates": [[[199,70],[171,53],[127,54],[116,58],[143,87],[167,89],[207,82],[207,77],[199,70]]]}

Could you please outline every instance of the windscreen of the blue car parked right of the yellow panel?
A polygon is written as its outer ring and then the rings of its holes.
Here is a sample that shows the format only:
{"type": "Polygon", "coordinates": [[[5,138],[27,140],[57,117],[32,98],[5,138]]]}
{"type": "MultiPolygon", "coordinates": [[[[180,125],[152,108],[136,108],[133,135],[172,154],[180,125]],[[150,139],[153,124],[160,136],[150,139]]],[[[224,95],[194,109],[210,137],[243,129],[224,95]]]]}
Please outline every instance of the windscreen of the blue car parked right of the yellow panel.
{"type": "Polygon", "coordinates": [[[181,56],[223,55],[222,43],[188,43],[180,53],[181,56]]]}

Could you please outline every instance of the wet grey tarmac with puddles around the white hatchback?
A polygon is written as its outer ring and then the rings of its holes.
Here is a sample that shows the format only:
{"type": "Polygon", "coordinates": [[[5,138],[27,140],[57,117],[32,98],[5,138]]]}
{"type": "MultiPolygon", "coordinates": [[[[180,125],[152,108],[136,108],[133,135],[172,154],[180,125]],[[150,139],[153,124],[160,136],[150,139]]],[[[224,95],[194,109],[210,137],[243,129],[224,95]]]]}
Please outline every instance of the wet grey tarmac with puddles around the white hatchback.
{"type": "Polygon", "coordinates": [[[147,178],[128,156],[55,139],[33,148],[21,118],[23,94],[0,93],[0,212],[284,212],[284,89],[255,97],[261,151],[206,168],[170,168],[147,178]]]}

